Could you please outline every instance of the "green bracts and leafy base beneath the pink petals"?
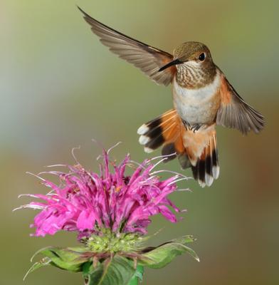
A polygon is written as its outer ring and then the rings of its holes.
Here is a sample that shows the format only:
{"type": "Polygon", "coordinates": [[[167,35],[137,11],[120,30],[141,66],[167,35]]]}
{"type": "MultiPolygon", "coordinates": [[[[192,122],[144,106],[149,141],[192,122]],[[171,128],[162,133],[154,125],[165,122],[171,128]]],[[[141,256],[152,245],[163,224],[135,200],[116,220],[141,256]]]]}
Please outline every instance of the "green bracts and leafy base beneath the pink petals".
{"type": "Polygon", "coordinates": [[[100,236],[93,236],[88,239],[84,247],[41,249],[37,254],[42,254],[43,259],[33,264],[26,276],[42,266],[53,265],[67,271],[83,272],[86,285],[132,285],[142,279],[143,266],[154,269],[162,268],[175,257],[186,252],[199,261],[194,250],[186,246],[194,242],[192,236],[173,239],[159,247],[149,247],[137,252],[135,249],[139,247],[134,246],[139,241],[142,242],[144,238],[139,239],[135,234],[120,234],[119,236],[112,234],[111,239],[108,239],[110,237],[108,234],[105,237],[104,241],[100,241],[100,236]],[[124,250],[128,249],[127,244],[123,247],[119,245],[119,243],[125,244],[121,242],[123,240],[130,244],[132,252],[124,250]],[[97,247],[95,242],[100,242],[102,246],[97,247]],[[104,252],[100,250],[102,247],[104,252]],[[107,249],[111,250],[107,252],[107,249]]]}

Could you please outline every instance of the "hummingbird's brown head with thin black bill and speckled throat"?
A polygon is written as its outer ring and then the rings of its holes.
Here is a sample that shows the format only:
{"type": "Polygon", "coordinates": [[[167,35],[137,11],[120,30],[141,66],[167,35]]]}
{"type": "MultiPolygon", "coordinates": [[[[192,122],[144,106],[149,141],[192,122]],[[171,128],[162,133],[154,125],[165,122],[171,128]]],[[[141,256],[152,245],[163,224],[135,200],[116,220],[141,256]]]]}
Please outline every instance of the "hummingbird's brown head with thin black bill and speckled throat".
{"type": "Polygon", "coordinates": [[[188,41],[174,49],[174,60],[159,69],[177,67],[177,81],[181,86],[200,88],[214,80],[216,66],[204,43],[188,41]]]}

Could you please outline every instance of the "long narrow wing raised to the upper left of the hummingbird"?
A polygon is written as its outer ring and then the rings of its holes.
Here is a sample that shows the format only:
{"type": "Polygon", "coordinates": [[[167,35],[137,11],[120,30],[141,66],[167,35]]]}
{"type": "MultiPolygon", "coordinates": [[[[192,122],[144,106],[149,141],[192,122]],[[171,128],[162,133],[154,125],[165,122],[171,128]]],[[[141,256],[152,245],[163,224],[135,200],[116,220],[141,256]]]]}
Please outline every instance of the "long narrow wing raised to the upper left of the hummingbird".
{"type": "MultiPolygon", "coordinates": [[[[78,9],[80,9],[78,7],[78,9]]],[[[112,53],[116,53],[120,58],[132,63],[141,69],[152,81],[164,86],[172,82],[176,68],[171,66],[164,71],[159,72],[159,68],[173,60],[173,56],[158,48],[148,46],[145,43],[125,36],[113,28],[105,26],[99,21],[93,19],[82,9],[80,11],[84,15],[85,21],[91,26],[91,30],[95,33],[100,41],[110,48],[112,53]]]]}

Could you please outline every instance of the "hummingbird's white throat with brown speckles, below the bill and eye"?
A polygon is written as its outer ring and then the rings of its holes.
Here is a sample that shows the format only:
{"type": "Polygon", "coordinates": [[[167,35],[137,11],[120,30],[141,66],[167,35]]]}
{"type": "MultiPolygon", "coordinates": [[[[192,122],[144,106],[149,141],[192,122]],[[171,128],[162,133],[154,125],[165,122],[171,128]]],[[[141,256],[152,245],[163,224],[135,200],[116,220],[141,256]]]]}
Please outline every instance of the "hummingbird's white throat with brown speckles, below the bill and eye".
{"type": "Polygon", "coordinates": [[[176,80],[179,86],[191,89],[202,88],[214,81],[216,66],[214,63],[201,68],[194,64],[182,63],[177,65],[176,80]]]}

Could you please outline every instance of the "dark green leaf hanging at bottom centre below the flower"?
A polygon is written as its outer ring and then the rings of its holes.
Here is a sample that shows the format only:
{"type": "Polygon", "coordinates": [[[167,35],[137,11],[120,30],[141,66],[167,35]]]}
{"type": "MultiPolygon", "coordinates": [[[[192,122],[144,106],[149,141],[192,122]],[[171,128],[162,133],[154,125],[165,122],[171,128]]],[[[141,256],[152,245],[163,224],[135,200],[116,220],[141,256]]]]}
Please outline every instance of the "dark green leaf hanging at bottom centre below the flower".
{"type": "Polygon", "coordinates": [[[133,262],[115,256],[99,264],[93,273],[86,276],[86,285],[127,285],[135,274],[133,262]]]}

